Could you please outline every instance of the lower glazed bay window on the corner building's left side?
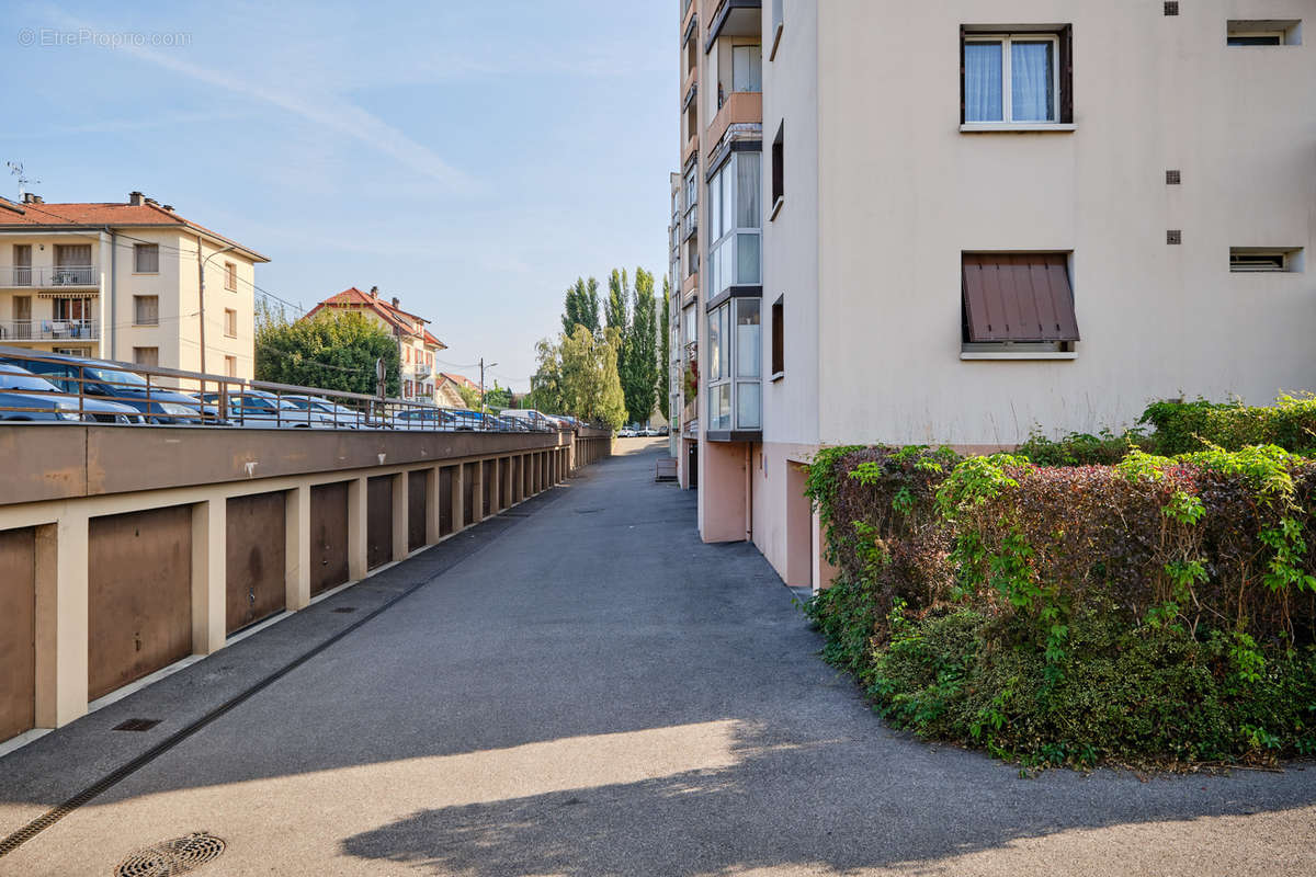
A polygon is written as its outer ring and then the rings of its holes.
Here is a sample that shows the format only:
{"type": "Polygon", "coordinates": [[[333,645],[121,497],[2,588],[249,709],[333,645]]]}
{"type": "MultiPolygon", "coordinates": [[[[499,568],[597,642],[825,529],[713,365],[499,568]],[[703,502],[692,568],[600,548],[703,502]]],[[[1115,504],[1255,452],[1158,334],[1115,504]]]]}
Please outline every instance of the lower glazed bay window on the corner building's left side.
{"type": "Polygon", "coordinates": [[[740,297],[708,314],[709,430],[763,429],[759,310],[759,298],[740,297]]]}

